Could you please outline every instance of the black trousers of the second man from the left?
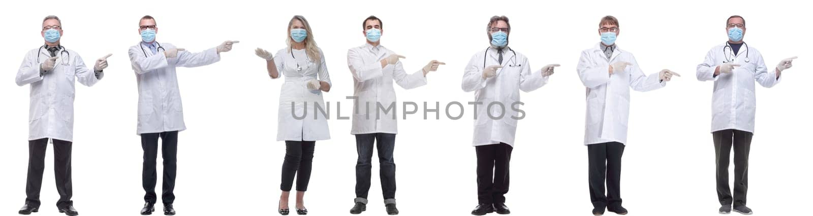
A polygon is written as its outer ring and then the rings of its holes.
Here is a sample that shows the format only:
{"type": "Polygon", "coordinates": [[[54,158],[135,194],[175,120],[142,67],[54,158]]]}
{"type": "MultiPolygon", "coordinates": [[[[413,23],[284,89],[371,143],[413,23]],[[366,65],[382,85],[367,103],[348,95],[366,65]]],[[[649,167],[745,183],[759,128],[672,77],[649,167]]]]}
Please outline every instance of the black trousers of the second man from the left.
{"type": "Polygon", "coordinates": [[[141,185],[144,187],[144,201],[155,203],[155,182],[158,174],[155,161],[158,159],[158,139],[161,138],[161,157],[163,158],[163,192],[161,201],[172,204],[175,201],[175,176],[177,170],[178,132],[156,132],[141,134],[141,149],[144,149],[144,166],[141,170],[141,185]]]}

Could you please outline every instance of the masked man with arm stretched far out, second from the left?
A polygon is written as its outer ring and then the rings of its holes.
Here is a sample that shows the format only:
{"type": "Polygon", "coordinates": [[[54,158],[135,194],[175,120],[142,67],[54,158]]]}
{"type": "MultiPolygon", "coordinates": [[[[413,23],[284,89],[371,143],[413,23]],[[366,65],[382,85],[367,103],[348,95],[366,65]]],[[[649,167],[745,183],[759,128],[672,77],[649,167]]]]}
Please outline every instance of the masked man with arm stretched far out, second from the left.
{"type": "Polygon", "coordinates": [[[223,44],[202,51],[190,53],[169,43],[155,41],[158,27],[152,16],[146,15],[139,21],[141,41],[130,47],[128,54],[138,84],[138,124],[136,133],[141,136],[144,150],[144,164],[141,183],[146,192],[146,204],[141,214],[154,211],[155,160],[158,153],[158,140],[163,140],[163,201],[164,214],[175,214],[172,202],[175,201],[175,176],[178,132],[186,129],[184,110],[180,103],[180,89],[176,67],[200,67],[220,61],[220,53],[232,50],[233,43],[223,44]]]}

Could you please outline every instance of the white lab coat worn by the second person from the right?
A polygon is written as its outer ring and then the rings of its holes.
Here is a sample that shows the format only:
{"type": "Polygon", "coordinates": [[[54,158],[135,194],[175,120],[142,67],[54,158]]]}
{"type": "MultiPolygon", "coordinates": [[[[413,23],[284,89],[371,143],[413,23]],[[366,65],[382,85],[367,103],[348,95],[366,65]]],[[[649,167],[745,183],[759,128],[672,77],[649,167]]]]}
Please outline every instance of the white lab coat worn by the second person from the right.
{"type": "Polygon", "coordinates": [[[586,87],[587,112],[585,117],[585,145],[620,142],[627,145],[629,119],[629,89],[639,92],[663,88],[658,73],[646,76],[633,54],[615,46],[610,60],[597,43],[581,52],[576,67],[586,87]],[[624,71],[608,73],[611,63],[628,62],[624,71]]]}

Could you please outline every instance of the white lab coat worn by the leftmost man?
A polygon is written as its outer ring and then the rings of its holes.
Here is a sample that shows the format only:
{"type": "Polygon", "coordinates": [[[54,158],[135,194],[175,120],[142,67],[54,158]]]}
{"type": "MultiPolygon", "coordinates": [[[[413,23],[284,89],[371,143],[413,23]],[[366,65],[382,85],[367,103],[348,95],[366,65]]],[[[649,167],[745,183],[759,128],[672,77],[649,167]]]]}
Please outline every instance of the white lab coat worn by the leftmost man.
{"type": "Polygon", "coordinates": [[[78,80],[80,84],[93,86],[102,78],[103,74],[99,74],[97,79],[93,68],[85,67],[85,62],[73,50],[67,50],[64,56],[59,50],[57,57],[54,69],[40,76],[40,64],[50,58],[50,53],[45,48],[28,51],[17,71],[17,85],[31,85],[28,140],[51,138],[72,142],[74,84],[78,80]]]}

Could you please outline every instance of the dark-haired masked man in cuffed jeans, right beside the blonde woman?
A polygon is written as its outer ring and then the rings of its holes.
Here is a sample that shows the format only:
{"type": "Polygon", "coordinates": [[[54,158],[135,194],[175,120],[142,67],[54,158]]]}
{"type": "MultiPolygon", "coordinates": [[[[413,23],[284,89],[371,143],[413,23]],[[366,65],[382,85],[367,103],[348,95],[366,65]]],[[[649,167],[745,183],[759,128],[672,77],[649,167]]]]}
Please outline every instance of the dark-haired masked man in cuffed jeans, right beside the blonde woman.
{"type": "Polygon", "coordinates": [[[353,73],[354,80],[354,114],[350,134],[356,137],[356,150],[359,153],[356,162],[356,186],[354,206],[350,214],[361,214],[367,210],[367,192],[370,191],[372,169],[372,149],[377,142],[378,162],[380,166],[381,192],[387,214],[398,214],[395,206],[395,134],[398,133],[395,111],[395,89],[393,81],[403,89],[415,89],[426,84],[426,74],[437,71],[441,63],[430,61],[421,71],[407,74],[399,58],[392,50],[380,45],[384,33],[384,24],[376,16],[369,16],[362,24],[363,34],[367,37],[364,45],[347,50],[347,67],[353,73]],[[367,107],[367,108],[361,108],[367,107]],[[381,106],[384,113],[380,113],[381,106]],[[393,109],[394,110],[394,109],[393,109]]]}

